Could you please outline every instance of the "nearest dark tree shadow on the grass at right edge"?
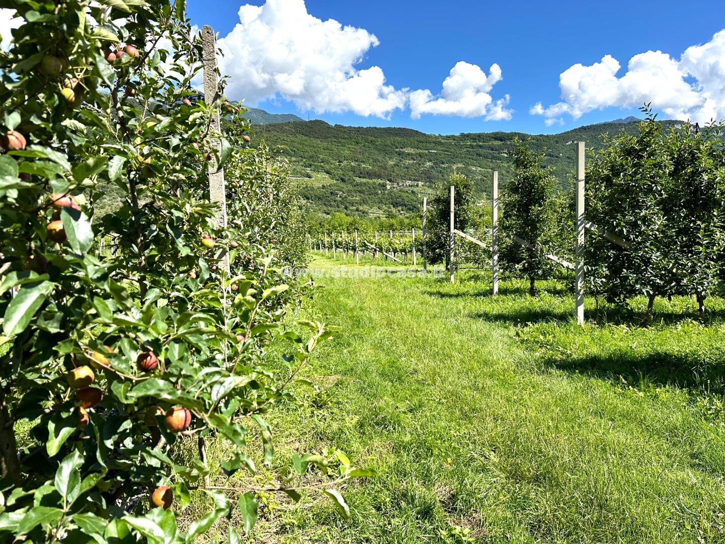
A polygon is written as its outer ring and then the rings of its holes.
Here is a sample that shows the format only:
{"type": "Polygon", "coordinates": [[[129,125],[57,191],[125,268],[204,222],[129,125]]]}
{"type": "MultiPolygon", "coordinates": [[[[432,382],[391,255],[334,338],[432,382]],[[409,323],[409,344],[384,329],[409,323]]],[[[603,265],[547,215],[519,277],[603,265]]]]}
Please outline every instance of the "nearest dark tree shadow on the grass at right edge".
{"type": "Polygon", "coordinates": [[[721,395],[725,392],[725,365],[703,363],[696,355],[673,353],[647,353],[586,355],[584,357],[544,358],[544,366],[559,370],[606,379],[618,385],[637,389],[647,386],[670,386],[688,390],[701,390],[721,395]]]}

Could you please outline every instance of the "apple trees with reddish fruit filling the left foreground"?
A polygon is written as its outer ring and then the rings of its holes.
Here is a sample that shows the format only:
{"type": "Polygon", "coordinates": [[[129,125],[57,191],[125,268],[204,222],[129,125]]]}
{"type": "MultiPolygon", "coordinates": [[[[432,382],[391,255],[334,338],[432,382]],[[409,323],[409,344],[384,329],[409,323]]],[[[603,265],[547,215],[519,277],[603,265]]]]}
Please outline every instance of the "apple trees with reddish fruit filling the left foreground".
{"type": "Polygon", "coordinates": [[[22,25],[0,54],[0,540],[181,543],[214,527],[239,542],[260,493],[299,487],[347,515],[334,482],[365,471],[343,453],[270,468],[265,413],[331,331],[288,326],[307,289],[283,272],[305,261],[297,196],[286,165],[247,145],[223,82],[198,99],[183,1],[4,7],[22,25]],[[225,168],[226,228],[208,164],[225,168]],[[209,440],[225,444],[221,475],[209,440]],[[200,496],[210,508],[189,519],[200,496]]]}

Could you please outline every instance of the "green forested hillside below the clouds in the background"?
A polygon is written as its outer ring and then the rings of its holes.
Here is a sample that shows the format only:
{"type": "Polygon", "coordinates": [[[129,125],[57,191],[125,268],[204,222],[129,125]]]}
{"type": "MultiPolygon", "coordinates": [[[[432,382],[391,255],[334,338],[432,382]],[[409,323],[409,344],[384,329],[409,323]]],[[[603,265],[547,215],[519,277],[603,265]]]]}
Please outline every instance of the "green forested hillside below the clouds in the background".
{"type": "MultiPolygon", "coordinates": [[[[604,133],[634,133],[637,123],[601,123],[553,135],[529,136],[492,132],[436,136],[408,128],[364,128],[304,123],[257,128],[264,141],[292,162],[293,176],[303,178],[302,197],[320,213],[386,215],[415,212],[421,197],[453,170],[473,180],[478,194],[490,194],[491,171],[502,184],[510,177],[508,154],[513,140],[529,139],[534,152],[545,152],[560,186],[566,188],[574,170],[569,141],[587,141],[600,148],[604,133]]],[[[665,123],[675,123],[666,121],[665,123]]]]}

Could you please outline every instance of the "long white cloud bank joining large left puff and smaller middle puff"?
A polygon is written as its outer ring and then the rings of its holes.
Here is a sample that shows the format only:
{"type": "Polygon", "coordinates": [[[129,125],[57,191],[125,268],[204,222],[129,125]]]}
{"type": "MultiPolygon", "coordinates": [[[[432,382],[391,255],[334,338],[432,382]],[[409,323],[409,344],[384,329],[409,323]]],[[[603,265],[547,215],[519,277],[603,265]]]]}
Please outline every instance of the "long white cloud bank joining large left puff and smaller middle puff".
{"type": "Polygon", "coordinates": [[[436,97],[427,89],[411,92],[387,84],[381,67],[360,69],[379,44],[368,30],[310,15],[305,0],[266,0],[239,8],[239,24],[218,40],[224,52],[220,70],[230,76],[228,96],[251,105],[281,97],[317,113],[389,118],[410,105],[416,119],[426,113],[511,118],[509,96],[494,102],[489,94],[501,79],[498,65],[486,75],[459,62],[436,97]]]}

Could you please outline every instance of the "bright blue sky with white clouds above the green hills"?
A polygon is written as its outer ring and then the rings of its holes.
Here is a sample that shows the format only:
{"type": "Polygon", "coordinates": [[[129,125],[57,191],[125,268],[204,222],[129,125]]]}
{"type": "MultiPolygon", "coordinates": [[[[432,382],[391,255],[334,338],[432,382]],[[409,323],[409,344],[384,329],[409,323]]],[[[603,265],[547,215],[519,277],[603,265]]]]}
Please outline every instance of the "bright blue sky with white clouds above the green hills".
{"type": "MultiPolygon", "coordinates": [[[[275,88],[274,84],[265,83],[263,89],[257,88],[253,91],[249,88],[249,83],[245,82],[254,79],[249,75],[250,72],[241,67],[237,73],[234,72],[239,65],[244,64],[247,57],[260,54],[260,44],[265,42],[263,36],[256,36],[255,39],[262,41],[239,44],[241,49],[236,50],[237,56],[230,54],[229,66],[224,67],[232,73],[230,91],[233,92],[230,94],[233,98],[241,97],[233,96],[235,93],[250,96],[256,92],[258,107],[270,112],[293,112],[304,118],[309,114],[311,118],[346,125],[406,126],[428,133],[560,132],[579,125],[636,115],[636,104],[640,102],[635,101],[643,96],[653,100],[655,107],[659,105],[665,117],[704,118],[703,116],[714,115],[713,111],[717,115],[725,113],[725,87],[722,83],[717,83],[717,80],[722,81],[719,76],[725,74],[717,73],[717,78],[713,75],[713,67],[725,70],[725,60],[718,60],[723,58],[724,52],[719,41],[717,44],[713,42],[706,49],[693,50],[687,62],[680,60],[687,48],[710,43],[713,36],[725,28],[723,0],[270,0],[272,1],[277,2],[278,12],[275,17],[265,16],[265,24],[283,25],[285,13],[293,11],[293,4],[295,9],[300,9],[299,4],[302,4],[303,11],[306,9],[310,17],[323,21],[336,20],[343,26],[364,29],[368,36],[374,35],[379,44],[361,47],[363,58],[360,62],[354,62],[354,70],[379,67],[384,73],[385,86],[392,86],[394,93],[401,93],[387,96],[388,100],[402,99],[405,89],[429,89],[430,95],[422,99],[426,105],[421,106],[420,118],[412,118],[410,106],[378,112],[383,117],[361,115],[368,111],[364,106],[356,106],[362,108],[358,112],[344,112],[342,110],[346,109],[345,104],[360,102],[355,98],[342,99],[338,96],[338,91],[335,91],[334,96],[325,96],[318,100],[325,93],[320,93],[320,88],[315,90],[315,83],[326,85],[320,74],[310,73],[310,70],[314,71],[315,66],[320,65],[320,62],[310,59],[313,66],[300,76],[309,88],[300,94],[293,93],[289,99],[281,96],[279,91],[276,96],[269,98],[270,89],[275,88]],[[289,9],[284,5],[286,2],[291,3],[289,9]],[[612,80],[610,73],[616,72],[616,78],[622,78],[627,71],[629,59],[646,51],[663,51],[665,55],[642,57],[641,66],[636,73],[621,81],[612,80]],[[610,62],[595,65],[606,55],[616,59],[621,69],[616,70],[616,66],[612,67],[610,62]],[[676,70],[679,70],[677,75],[671,73],[669,57],[676,65],[676,70]],[[464,80],[463,86],[468,84],[465,81],[470,78],[480,80],[476,73],[478,69],[471,65],[482,69],[484,79],[487,75],[492,75],[489,70],[494,63],[500,67],[500,81],[498,78],[494,78],[495,81],[489,78],[489,82],[493,81],[490,88],[482,88],[481,84],[486,86],[486,83],[479,81],[479,87],[473,88],[471,92],[476,97],[476,103],[480,103],[480,99],[485,102],[486,97],[490,96],[490,101],[495,104],[504,99],[505,95],[509,95],[510,101],[502,106],[502,110],[508,114],[500,117],[509,116],[510,119],[486,120],[487,114],[476,115],[479,112],[476,107],[473,108],[476,112],[468,111],[476,117],[465,118],[460,115],[465,110],[464,106],[436,102],[441,98],[439,94],[442,92],[444,79],[461,61],[467,63],[463,66],[465,72],[460,73],[464,80]],[[582,73],[576,70],[572,72],[573,87],[568,89],[570,98],[561,102],[560,74],[577,63],[594,67],[582,73]],[[706,70],[707,67],[711,69],[706,70]],[[647,70],[655,70],[654,75],[650,75],[647,70]],[[597,79],[602,72],[608,76],[603,84],[597,79]],[[683,85],[690,86],[692,83],[698,85],[695,88],[697,92],[682,88],[683,85]],[[587,88],[587,91],[579,93],[580,87],[587,88]],[[313,108],[307,108],[310,101],[322,103],[315,102],[313,108]],[[542,103],[540,115],[532,115],[531,107],[539,102],[542,103]],[[708,107],[705,107],[705,102],[708,102],[708,107]],[[552,109],[551,106],[555,104],[561,105],[552,109]],[[600,105],[605,105],[605,109],[599,110],[600,105]],[[317,107],[318,112],[315,112],[314,107],[317,107]],[[449,115],[431,113],[441,109],[449,115]]],[[[266,2],[189,0],[188,15],[196,25],[212,25],[220,33],[220,37],[225,37],[239,23],[238,12],[242,4],[265,7],[266,2]]],[[[307,14],[303,13],[305,20],[307,14]]],[[[281,34],[290,34],[289,28],[279,30],[281,34]]],[[[264,31],[273,33],[274,29],[265,28],[264,31]]],[[[312,26],[310,32],[317,33],[317,30],[312,26]]],[[[233,50],[234,46],[231,44],[235,40],[241,42],[252,39],[252,33],[252,30],[238,28],[237,34],[226,40],[230,44],[230,51],[233,50]]],[[[335,40],[332,46],[338,48],[341,44],[344,45],[347,36],[340,34],[332,39],[335,40]]],[[[291,67],[270,67],[270,60],[286,54],[294,57],[295,51],[291,49],[305,49],[309,41],[302,38],[297,40],[297,44],[294,40],[289,44],[283,41],[278,44],[276,57],[269,53],[260,62],[266,63],[265,70],[289,72],[291,67]]],[[[725,43],[725,38],[721,41],[725,43]]],[[[297,51],[297,54],[301,55],[299,58],[308,59],[315,53],[308,53],[305,49],[297,51]]],[[[299,65],[299,59],[297,64],[299,65]]],[[[456,78],[459,83],[460,77],[456,78]]],[[[453,94],[459,91],[463,92],[456,87],[450,97],[455,98],[453,94]]],[[[481,112],[483,110],[479,113],[481,112]]]]}

